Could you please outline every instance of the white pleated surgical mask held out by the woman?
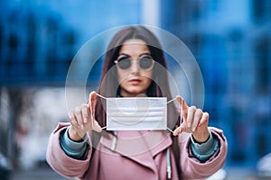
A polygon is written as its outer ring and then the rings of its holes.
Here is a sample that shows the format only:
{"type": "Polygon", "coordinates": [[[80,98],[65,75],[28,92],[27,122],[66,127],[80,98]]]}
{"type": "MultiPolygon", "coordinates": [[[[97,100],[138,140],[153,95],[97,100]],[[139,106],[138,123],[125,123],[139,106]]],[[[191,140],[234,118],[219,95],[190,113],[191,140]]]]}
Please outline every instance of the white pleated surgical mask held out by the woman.
{"type": "Polygon", "coordinates": [[[166,129],[166,97],[107,98],[107,130],[166,129]]]}

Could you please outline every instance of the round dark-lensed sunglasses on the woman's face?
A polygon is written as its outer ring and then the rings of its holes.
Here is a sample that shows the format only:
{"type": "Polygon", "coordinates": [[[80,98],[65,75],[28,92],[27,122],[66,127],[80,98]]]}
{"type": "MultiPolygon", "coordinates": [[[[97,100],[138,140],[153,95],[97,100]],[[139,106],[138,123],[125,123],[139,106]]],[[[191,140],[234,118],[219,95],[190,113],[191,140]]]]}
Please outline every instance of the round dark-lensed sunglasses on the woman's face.
{"type": "MultiPolygon", "coordinates": [[[[127,69],[132,66],[132,58],[126,55],[121,55],[117,60],[114,61],[118,67],[121,69],[127,69]]],[[[137,58],[137,62],[139,63],[139,67],[143,69],[149,69],[154,65],[154,59],[150,55],[142,55],[137,58]]]]}

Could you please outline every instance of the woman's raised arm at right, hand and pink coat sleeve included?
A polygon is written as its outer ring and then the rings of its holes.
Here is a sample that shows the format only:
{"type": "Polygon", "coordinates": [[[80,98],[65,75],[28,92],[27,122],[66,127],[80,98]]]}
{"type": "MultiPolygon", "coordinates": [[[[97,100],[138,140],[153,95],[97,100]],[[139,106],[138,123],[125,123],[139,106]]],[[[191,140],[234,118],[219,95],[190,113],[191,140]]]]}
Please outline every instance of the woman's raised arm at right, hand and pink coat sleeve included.
{"type": "Polygon", "coordinates": [[[183,121],[174,130],[173,135],[180,135],[182,139],[182,132],[192,133],[191,139],[185,141],[180,139],[182,177],[188,179],[208,177],[224,166],[228,150],[227,140],[222,130],[208,128],[208,112],[202,112],[195,106],[188,106],[180,96],[176,99],[182,107],[183,121]]]}

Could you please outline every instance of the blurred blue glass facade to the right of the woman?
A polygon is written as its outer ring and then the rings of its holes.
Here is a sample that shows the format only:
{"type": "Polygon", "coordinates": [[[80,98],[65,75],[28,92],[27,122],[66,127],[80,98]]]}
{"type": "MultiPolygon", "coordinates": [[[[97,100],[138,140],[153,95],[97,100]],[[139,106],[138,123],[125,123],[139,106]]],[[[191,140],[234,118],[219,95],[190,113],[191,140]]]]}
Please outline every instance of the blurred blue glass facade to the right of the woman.
{"type": "Polygon", "coordinates": [[[256,166],[271,152],[271,2],[162,2],[163,28],[186,43],[201,67],[210,125],[229,140],[227,164],[256,166]],[[168,21],[164,14],[174,16],[168,21]]]}

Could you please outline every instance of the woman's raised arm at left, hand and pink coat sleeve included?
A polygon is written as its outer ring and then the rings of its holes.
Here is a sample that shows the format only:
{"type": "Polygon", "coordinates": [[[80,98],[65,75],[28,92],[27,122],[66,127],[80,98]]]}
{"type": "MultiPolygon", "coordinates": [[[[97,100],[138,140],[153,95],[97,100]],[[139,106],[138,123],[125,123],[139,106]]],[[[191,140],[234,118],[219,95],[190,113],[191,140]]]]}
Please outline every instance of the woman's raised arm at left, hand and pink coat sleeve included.
{"type": "Polygon", "coordinates": [[[86,137],[88,131],[101,131],[98,122],[94,119],[95,98],[96,93],[91,92],[88,104],[83,103],[69,112],[70,123],[59,124],[56,130],[51,133],[46,158],[49,165],[61,175],[78,177],[82,176],[89,168],[92,152],[90,139],[88,139],[89,146],[80,143],[77,145],[81,147],[70,147],[67,145],[73,143],[72,141],[75,143],[79,142],[83,137],[86,137]],[[70,128],[66,130],[68,126],[70,128]],[[67,136],[69,136],[68,139],[63,139],[65,130],[67,131],[67,136]],[[86,149],[83,150],[82,148],[86,149]]]}

